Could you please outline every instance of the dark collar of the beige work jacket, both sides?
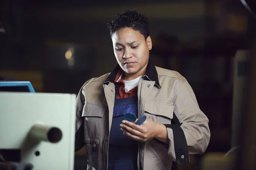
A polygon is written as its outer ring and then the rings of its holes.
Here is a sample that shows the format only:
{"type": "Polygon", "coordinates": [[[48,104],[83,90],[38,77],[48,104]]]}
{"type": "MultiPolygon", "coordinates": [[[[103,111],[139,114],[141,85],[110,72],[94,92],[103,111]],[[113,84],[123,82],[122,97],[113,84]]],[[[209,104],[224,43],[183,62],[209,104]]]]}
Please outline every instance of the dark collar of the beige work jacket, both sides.
{"type": "MultiPolygon", "coordinates": [[[[108,78],[104,81],[104,84],[108,82],[114,82],[114,79],[119,69],[120,69],[120,66],[117,64],[116,67],[113,69],[113,71],[111,71],[111,73],[109,74],[108,78]]],[[[147,79],[149,79],[150,81],[154,81],[155,85],[161,87],[158,80],[157,69],[150,59],[148,60],[148,67],[147,67],[146,74],[144,76],[147,77],[147,79]]]]}

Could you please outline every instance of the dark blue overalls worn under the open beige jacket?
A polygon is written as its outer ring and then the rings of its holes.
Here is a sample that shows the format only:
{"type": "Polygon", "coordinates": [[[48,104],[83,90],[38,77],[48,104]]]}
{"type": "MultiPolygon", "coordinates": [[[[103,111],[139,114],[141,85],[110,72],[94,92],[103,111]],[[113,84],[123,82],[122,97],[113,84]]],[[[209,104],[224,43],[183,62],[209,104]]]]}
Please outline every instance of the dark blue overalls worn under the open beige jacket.
{"type": "MultiPolygon", "coordinates": [[[[116,88],[116,94],[118,92],[116,88]]],[[[136,97],[115,99],[108,148],[108,170],[137,170],[138,144],[123,134],[120,124],[125,113],[137,115],[136,97]]]]}

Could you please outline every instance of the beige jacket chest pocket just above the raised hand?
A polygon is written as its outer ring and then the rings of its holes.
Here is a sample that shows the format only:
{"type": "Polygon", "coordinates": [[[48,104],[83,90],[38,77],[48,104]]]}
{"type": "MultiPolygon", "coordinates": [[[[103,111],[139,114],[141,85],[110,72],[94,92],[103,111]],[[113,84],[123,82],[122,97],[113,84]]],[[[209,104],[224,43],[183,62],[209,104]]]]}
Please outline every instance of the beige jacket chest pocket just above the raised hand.
{"type": "Polygon", "coordinates": [[[144,115],[147,119],[159,124],[171,124],[174,106],[172,102],[147,101],[145,103],[144,115]]]}

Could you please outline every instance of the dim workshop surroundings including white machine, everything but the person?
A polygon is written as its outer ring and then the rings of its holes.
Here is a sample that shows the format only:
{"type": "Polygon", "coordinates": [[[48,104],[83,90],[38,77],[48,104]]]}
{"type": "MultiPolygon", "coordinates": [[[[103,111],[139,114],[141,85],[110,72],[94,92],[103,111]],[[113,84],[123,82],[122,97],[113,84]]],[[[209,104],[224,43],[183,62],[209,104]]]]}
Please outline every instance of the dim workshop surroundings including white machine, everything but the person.
{"type": "Polygon", "coordinates": [[[106,23],[149,19],[150,58],[178,71],[209,119],[204,154],[179,170],[256,170],[255,0],[1,0],[0,170],[85,170],[76,96],[117,62],[106,23]]]}

